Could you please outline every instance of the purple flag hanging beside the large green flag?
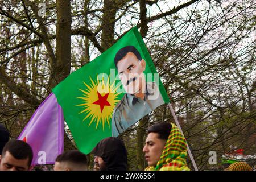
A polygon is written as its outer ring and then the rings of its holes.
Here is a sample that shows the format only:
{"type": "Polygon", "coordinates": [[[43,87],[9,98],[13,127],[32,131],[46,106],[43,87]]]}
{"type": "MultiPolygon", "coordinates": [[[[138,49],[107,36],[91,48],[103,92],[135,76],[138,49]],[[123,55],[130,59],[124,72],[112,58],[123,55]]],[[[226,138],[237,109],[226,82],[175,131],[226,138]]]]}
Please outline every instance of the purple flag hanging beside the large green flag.
{"type": "Polygon", "coordinates": [[[33,150],[32,166],[54,164],[64,147],[63,110],[55,94],[51,93],[32,115],[18,140],[30,144],[33,150]]]}

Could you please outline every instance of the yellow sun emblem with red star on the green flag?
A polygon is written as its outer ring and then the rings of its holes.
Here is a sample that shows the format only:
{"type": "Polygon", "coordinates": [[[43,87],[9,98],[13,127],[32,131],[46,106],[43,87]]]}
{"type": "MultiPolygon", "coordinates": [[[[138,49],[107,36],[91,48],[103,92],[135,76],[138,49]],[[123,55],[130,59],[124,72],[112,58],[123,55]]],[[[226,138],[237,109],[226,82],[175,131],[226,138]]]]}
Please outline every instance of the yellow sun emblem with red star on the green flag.
{"type": "Polygon", "coordinates": [[[115,88],[115,81],[110,84],[109,77],[105,80],[102,77],[101,80],[97,79],[96,81],[90,78],[90,84],[84,82],[84,85],[86,87],[85,89],[79,89],[84,97],[77,97],[83,102],[77,105],[83,108],[79,113],[84,113],[85,115],[82,121],[90,119],[89,126],[93,122],[96,122],[96,129],[99,123],[102,123],[103,130],[105,123],[108,123],[110,127],[114,107],[119,101],[117,100],[117,96],[120,94],[116,92],[118,88],[115,88]]]}

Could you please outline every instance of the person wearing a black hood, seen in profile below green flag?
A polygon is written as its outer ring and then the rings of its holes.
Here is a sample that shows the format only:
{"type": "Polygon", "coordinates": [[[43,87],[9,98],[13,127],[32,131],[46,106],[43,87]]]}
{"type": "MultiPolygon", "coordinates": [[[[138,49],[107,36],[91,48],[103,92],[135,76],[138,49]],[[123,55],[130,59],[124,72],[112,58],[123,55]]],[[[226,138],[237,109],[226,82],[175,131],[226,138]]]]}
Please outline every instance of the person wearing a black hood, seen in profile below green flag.
{"type": "Polygon", "coordinates": [[[108,137],[93,148],[94,162],[101,171],[126,171],[127,150],[122,140],[108,137]]]}

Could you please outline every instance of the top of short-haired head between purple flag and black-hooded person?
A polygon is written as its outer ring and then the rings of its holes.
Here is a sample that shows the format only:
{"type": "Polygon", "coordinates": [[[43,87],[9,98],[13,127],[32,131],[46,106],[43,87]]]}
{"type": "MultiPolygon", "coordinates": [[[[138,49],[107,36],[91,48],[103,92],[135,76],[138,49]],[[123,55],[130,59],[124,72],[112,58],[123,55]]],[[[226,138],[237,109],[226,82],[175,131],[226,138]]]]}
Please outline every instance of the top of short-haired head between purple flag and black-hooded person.
{"type": "Polygon", "coordinates": [[[87,156],[78,150],[63,152],[57,156],[54,171],[87,171],[87,156]]]}

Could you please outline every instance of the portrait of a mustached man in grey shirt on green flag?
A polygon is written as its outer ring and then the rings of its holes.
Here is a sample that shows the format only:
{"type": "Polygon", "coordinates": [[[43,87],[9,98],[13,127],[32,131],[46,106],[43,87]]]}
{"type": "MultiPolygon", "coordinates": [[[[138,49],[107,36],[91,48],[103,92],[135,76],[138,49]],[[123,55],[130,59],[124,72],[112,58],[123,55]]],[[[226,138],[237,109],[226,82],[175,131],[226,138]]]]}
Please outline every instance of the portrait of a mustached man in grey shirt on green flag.
{"type": "Polygon", "coordinates": [[[146,81],[146,61],[134,46],[119,49],[114,64],[126,92],[113,111],[112,136],[117,137],[164,101],[156,82],[146,81]]]}

